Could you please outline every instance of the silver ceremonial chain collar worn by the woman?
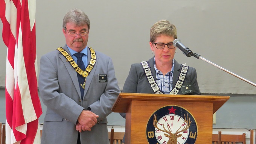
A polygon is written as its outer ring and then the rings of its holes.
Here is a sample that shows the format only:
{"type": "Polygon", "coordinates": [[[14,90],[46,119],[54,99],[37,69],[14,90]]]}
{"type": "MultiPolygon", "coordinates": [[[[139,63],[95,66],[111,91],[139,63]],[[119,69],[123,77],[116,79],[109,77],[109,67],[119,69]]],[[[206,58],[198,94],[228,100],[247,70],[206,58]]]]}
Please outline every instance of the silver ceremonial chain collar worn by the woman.
{"type": "MultiPolygon", "coordinates": [[[[142,67],[143,67],[143,69],[145,71],[145,74],[148,78],[148,82],[151,85],[155,94],[164,94],[163,92],[160,91],[160,88],[158,87],[157,83],[155,82],[154,77],[152,76],[151,70],[148,66],[148,62],[147,61],[142,61],[141,64],[142,64],[142,67]]],[[[183,66],[182,66],[182,69],[181,69],[179,79],[178,79],[175,87],[172,89],[172,91],[169,94],[177,94],[178,91],[181,88],[181,85],[183,84],[183,81],[184,81],[185,76],[187,74],[188,66],[186,64],[182,64],[182,65],[183,66]]]]}

